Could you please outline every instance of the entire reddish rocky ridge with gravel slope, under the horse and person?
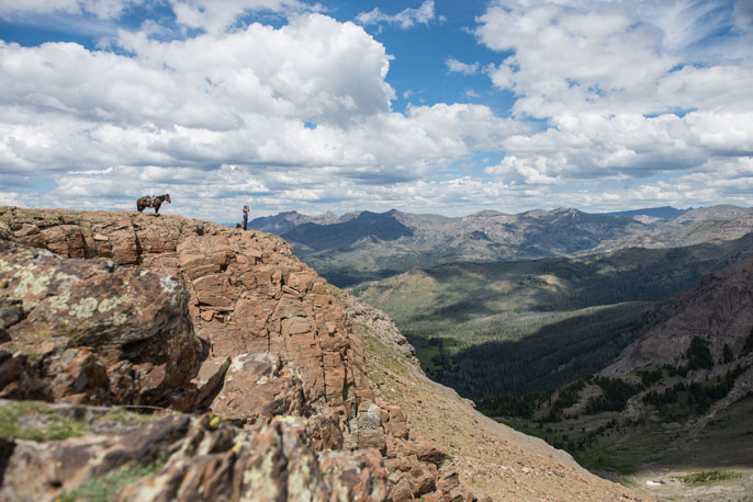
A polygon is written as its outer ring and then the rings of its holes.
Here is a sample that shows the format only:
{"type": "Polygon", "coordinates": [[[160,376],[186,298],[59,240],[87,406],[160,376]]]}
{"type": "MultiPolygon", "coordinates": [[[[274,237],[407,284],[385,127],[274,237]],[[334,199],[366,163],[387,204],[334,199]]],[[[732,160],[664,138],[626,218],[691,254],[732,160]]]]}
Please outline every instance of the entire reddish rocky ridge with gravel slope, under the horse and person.
{"type": "Polygon", "coordinates": [[[277,236],[0,207],[0,500],[643,500],[413,354],[277,236]]]}

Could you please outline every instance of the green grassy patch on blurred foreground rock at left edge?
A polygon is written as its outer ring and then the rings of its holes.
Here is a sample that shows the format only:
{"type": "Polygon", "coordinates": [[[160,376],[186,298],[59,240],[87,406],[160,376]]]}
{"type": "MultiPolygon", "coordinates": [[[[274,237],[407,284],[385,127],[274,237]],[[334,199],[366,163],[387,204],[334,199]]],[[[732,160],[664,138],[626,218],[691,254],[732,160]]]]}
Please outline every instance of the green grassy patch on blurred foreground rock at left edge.
{"type": "Polygon", "coordinates": [[[55,441],[78,437],[85,423],[55,413],[49,404],[20,401],[0,407],[0,437],[24,441],[55,441]]]}

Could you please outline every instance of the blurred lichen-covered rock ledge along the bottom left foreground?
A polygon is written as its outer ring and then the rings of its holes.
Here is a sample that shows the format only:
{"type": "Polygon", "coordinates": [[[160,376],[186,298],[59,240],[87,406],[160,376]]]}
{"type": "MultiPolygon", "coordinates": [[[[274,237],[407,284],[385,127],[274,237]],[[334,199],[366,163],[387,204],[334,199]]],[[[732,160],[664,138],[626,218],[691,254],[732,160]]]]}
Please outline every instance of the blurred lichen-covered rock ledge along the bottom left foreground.
{"type": "Polygon", "coordinates": [[[144,417],[103,407],[4,400],[0,418],[23,424],[22,438],[3,441],[0,448],[0,500],[389,497],[379,452],[317,453],[301,418],[276,418],[243,431],[209,414],[144,417]]]}

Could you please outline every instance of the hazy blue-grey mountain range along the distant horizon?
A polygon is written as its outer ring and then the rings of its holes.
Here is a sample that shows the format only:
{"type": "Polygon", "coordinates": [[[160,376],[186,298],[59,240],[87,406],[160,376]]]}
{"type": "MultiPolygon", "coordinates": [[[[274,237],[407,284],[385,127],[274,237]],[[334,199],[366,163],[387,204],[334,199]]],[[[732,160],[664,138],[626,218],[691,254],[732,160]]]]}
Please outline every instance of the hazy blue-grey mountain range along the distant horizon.
{"type": "Polygon", "coordinates": [[[413,266],[535,260],[629,247],[672,248],[730,240],[753,230],[753,210],[731,205],[614,214],[558,208],[517,215],[482,210],[464,217],[396,209],[340,217],[291,212],[257,218],[251,227],[280,231],[306,263],[333,284],[347,287],[413,266]]]}

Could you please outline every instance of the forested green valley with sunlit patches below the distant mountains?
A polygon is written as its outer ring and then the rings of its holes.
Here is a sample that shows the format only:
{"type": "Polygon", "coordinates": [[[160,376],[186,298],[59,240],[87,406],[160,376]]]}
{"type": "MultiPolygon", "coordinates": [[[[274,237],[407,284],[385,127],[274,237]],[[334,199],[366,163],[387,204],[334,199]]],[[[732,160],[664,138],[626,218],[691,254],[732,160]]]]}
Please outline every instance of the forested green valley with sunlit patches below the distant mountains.
{"type": "MultiPolygon", "coordinates": [[[[653,301],[744,258],[752,240],[576,259],[453,263],[362,284],[353,293],[394,318],[431,378],[475,400],[498,399],[486,402],[490,411],[506,402],[525,414],[530,398],[502,397],[597,373],[652,321],[653,301]]],[[[753,351],[753,335],[745,350],[753,351]]],[[[698,341],[688,357],[688,367],[713,364],[698,341]]]]}

